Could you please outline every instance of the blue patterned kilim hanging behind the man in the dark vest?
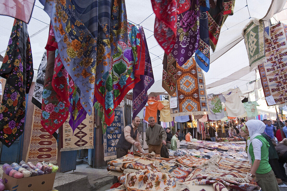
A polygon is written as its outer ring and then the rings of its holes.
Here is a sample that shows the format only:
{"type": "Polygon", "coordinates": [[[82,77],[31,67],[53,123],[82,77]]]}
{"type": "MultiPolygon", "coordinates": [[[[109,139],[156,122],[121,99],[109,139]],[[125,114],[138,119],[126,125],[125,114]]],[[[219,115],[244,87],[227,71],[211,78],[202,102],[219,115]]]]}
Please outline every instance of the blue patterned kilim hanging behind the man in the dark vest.
{"type": "Polygon", "coordinates": [[[115,119],[110,126],[107,126],[104,133],[104,160],[113,160],[117,158],[116,146],[121,137],[122,130],[125,127],[125,117],[123,107],[118,106],[115,109],[115,119]]]}

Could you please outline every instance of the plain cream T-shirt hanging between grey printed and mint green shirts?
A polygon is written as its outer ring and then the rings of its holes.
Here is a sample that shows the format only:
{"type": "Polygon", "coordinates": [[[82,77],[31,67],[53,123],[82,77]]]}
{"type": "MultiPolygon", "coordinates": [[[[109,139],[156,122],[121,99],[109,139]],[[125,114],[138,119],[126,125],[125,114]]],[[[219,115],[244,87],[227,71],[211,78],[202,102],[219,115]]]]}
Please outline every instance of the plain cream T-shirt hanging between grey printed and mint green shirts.
{"type": "Polygon", "coordinates": [[[225,97],[225,108],[228,117],[238,117],[246,112],[241,99],[244,98],[243,93],[237,87],[222,93],[225,97]]]}

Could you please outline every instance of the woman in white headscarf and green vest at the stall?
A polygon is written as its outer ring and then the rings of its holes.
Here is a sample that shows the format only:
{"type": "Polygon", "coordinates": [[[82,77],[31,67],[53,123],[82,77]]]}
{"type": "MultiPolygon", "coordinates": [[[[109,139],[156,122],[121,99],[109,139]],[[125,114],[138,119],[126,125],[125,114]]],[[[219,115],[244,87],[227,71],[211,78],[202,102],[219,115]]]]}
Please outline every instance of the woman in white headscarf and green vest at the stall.
{"type": "Polygon", "coordinates": [[[262,191],[279,191],[274,172],[268,163],[269,143],[261,135],[266,125],[260,120],[249,120],[245,125],[250,136],[247,141],[248,159],[251,164],[249,176],[255,178],[262,191]]]}

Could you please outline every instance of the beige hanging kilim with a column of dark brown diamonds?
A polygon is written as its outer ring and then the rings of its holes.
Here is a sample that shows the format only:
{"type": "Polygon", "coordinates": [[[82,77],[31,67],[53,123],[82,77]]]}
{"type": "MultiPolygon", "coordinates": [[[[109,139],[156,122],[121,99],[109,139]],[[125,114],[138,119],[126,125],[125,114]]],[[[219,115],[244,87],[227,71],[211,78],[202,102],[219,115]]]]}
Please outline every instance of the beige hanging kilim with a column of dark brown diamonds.
{"type": "Polygon", "coordinates": [[[80,149],[94,148],[94,108],[92,114],[87,114],[82,123],[75,129],[69,124],[70,114],[68,119],[63,124],[63,133],[61,135],[62,147],[60,151],[75,151],[80,149]]]}

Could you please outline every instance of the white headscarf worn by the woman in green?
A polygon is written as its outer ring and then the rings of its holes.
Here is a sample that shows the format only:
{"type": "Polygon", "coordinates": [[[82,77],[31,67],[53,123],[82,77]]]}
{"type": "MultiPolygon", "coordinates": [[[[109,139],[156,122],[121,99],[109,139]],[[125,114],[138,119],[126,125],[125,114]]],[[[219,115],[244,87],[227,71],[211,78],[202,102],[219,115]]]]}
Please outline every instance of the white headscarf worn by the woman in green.
{"type": "Polygon", "coordinates": [[[249,153],[249,146],[250,146],[250,143],[252,142],[252,140],[258,136],[258,135],[261,135],[261,133],[264,132],[265,128],[266,128],[266,125],[260,121],[260,120],[255,120],[255,119],[252,119],[252,120],[248,120],[245,125],[247,126],[248,128],[248,131],[249,131],[249,137],[250,139],[247,140],[247,145],[248,145],[248,148],[247,148],[247,153],[248,153],[248,159],[249,159],[249,163],[252,164],[252,160],[251,160],[251,155],[249,153]]]}

